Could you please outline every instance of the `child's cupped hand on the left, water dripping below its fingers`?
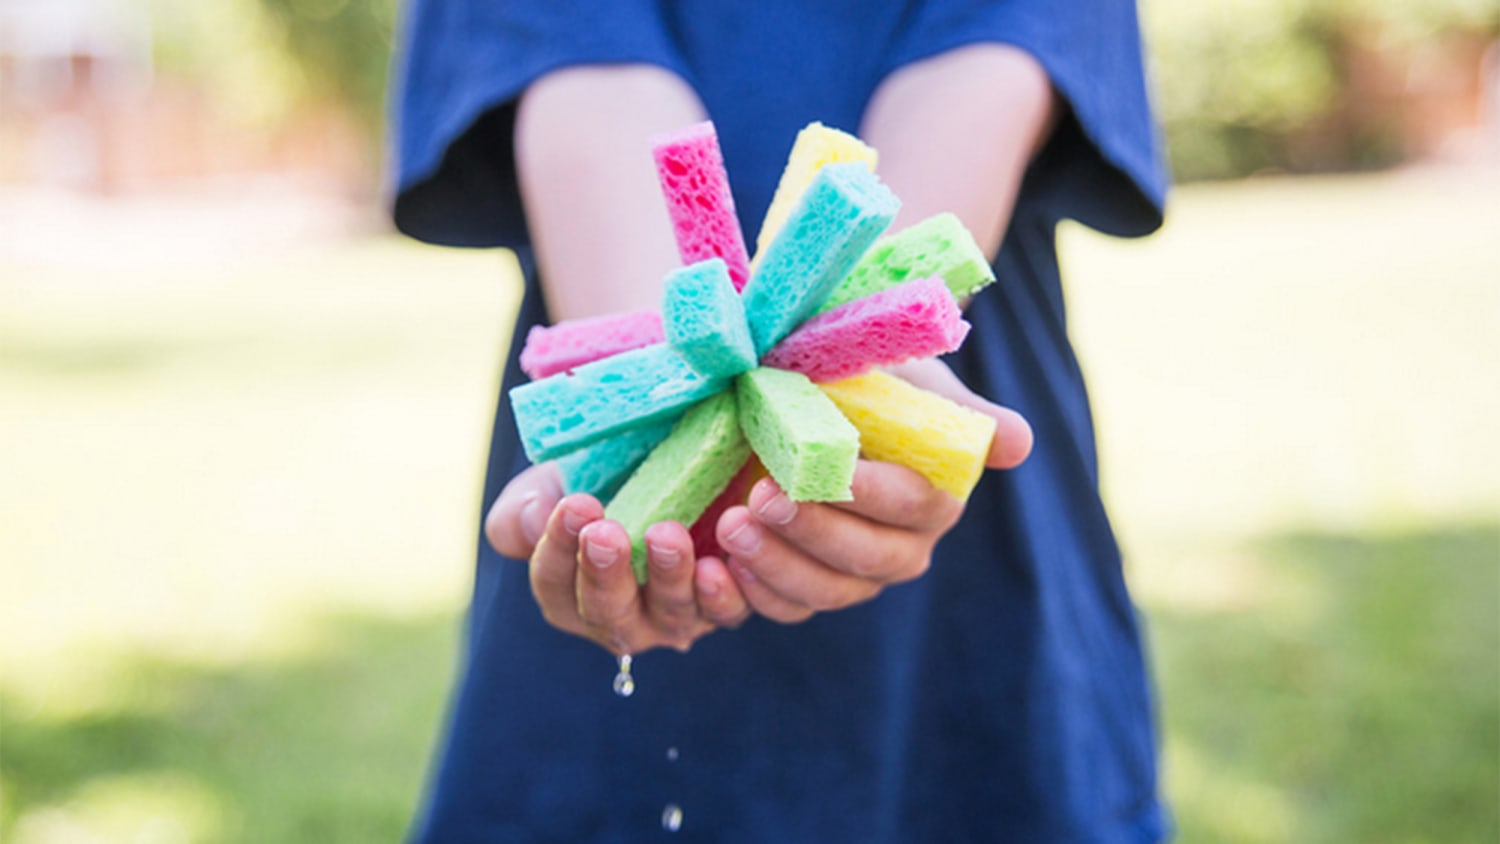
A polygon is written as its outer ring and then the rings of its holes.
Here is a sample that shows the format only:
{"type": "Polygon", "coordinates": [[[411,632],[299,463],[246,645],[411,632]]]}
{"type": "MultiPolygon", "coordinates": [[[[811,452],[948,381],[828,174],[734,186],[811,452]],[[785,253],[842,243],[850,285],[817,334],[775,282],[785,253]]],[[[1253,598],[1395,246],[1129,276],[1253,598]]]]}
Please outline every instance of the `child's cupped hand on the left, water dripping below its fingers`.
{"type": "Polygon", "coordinates": [[[696,559],[687,529],[662,522],[646,531],[650,583],[630,570],[630,538],[590,495],[562,496],[554,463],[516,475],[484,519],[495,549],[530,558],[531,591],[552,627],[614,654],[686,649],[750,610],[723,562],[696,559]]]}

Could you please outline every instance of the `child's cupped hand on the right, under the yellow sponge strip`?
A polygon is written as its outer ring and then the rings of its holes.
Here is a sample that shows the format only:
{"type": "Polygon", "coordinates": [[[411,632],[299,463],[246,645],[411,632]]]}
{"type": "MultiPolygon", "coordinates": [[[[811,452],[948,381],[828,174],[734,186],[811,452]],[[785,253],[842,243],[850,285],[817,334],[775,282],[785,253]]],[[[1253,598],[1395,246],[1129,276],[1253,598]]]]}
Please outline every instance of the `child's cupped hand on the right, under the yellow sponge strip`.
{"type": "MultiPolygon", "coordinates": [[[[920,361],[894,372],[994,417],[990,468],[1014,468],[1030,453],[1026,420],[970,393],[945,364],[920,361]]],[[[962,513],[963,502],[915,471],[860,460],[854,501],[794,504],[765,478],[750,490],[750,505],[728,510],[717,531],[750,607],[774,621],[800,622],[921,576],[962,513]]]]}

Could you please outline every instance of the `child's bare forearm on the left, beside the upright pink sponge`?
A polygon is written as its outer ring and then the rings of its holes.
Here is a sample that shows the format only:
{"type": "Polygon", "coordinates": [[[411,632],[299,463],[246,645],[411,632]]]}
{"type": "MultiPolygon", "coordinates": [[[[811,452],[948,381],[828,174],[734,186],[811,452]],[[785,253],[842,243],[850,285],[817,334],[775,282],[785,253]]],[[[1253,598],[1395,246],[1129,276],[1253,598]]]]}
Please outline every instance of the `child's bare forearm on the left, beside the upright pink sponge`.
{"type": "Polygon", "coordinates": [[[650,138],[704,120],[686,82],[651,66],[543,76],[516,112],[516,171],[554,319],[656,307],[680,264],[650,138]]]}

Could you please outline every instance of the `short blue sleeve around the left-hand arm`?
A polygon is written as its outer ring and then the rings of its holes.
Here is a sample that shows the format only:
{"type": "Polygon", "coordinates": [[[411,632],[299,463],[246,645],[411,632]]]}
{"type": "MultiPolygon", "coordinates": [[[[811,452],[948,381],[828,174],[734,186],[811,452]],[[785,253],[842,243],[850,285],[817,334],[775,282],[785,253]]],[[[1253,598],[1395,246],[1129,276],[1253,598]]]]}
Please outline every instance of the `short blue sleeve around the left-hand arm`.
{"type": "Polygon", "coordinates": [[[520,246],[516,100],[573,64],[687,76],[652,0],[411,0],[396,54],[396,228],[448,246],[520,246]],[[580,27],[579,21],[588,21],[580,27]]]}

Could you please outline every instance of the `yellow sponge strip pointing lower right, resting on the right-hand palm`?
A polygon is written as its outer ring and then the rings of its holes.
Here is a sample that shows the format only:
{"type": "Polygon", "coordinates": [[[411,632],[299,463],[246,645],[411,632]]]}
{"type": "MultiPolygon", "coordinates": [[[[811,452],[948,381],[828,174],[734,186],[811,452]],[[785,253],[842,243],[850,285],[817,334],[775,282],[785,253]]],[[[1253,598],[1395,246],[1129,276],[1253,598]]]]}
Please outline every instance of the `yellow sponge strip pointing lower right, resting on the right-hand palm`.
{"type": "Polygon", "coordinates": [[[819,388],[860,429],[866,457],[910,466],[960,501],[980,483],[993,418],[879,370],[819,388]]]}

